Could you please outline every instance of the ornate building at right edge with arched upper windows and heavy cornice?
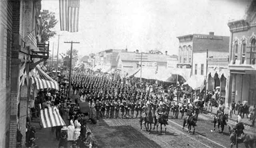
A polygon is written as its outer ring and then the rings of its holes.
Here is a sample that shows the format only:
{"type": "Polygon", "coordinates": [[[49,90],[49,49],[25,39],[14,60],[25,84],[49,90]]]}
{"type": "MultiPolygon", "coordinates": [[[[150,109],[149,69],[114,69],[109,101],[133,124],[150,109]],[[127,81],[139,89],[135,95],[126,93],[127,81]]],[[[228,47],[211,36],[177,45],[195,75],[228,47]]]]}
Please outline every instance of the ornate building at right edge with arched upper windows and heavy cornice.
{"type": "Polygon", "coordinates": [[[230,21],[229,92],[232,101],[256,104],[256,1],[251,1],[241,20],[230,21]]]}

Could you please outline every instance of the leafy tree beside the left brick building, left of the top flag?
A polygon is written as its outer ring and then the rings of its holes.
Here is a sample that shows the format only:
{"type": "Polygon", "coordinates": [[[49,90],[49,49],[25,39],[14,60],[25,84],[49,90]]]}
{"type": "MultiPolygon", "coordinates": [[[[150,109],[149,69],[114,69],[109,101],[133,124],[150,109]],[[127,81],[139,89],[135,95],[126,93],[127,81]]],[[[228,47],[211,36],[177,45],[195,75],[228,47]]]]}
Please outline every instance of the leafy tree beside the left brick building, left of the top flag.
{"type": "Polygon", "coordinates": [[[55,27],[58,21],[55,19],[55,13],[50,12],[49,10],[43,10],[41,12],[41,19],[43,27],[41,43],[45,43],[56,34],[56,32],[52,30],[52,28],[55,27]]]}

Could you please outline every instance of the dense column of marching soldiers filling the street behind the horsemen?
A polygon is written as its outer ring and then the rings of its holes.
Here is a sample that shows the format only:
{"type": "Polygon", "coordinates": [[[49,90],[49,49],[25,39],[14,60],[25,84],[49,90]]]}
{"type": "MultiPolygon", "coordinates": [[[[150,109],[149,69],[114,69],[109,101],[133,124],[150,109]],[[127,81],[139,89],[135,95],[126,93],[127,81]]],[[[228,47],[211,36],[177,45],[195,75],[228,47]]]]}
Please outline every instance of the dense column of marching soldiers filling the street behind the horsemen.
{"type": "Polygon", "coordinates": [[[157,115],[157,112],[169,114],[171,110],[175,119],[178,118],[179,111],[182,116],[187,111],[187,106],[172,103],[173,95],[159,97],[146,84],[135,79],[84,72],[73,76],[72,87],[74,92],[90,103],[90,107],[94,104],[97,118],[137,118],[141,117],[148,106],[153,115],[157,115]]]}

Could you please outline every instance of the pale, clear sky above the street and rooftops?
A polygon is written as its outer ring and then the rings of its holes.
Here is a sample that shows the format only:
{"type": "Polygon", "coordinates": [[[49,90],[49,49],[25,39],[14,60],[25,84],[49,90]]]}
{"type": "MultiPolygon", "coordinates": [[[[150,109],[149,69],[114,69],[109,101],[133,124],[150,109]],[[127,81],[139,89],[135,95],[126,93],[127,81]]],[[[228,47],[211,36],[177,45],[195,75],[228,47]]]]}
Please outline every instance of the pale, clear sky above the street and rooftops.
{"type": "MultiPolygon", "coordinates": [[[[243,19],[249,0],[80,0],[79,31],[53,30],[60,34],[60,53],[73,44],[84,56],[107,49],[160,50],[178,54],[178,36],[208,34],[229,36],[230,20],[243,19]]],[[[42,0],[42,10],[53,11],[60,20],[59,1],[42,0]]],[[[50,50],[57,54],[58,35],[50,50]]]]}

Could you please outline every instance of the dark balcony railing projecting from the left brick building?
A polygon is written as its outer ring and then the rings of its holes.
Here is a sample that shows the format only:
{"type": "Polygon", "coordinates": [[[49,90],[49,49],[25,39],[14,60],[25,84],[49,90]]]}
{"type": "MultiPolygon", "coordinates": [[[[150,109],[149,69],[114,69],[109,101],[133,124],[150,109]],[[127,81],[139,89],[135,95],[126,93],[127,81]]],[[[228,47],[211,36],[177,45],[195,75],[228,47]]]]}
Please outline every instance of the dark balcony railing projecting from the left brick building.
{"type": "Polygon", "coordinates": [[[38,51],[32,50],[32,58],[49,58],[49,43],[48,44],[42,44],[37,43],[38,51]]]}

